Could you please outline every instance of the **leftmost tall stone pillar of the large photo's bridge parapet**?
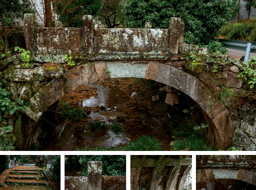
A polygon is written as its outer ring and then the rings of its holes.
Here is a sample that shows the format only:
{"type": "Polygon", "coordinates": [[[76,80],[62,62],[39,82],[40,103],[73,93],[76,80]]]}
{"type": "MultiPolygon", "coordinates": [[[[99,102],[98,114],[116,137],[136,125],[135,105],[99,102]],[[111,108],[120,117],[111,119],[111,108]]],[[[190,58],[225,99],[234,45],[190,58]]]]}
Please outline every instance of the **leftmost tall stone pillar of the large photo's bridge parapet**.
{"type": "Polygon", "coordinates": [[[27,50],[35,54],[37,51],[36,15],[24,14],[24,37],[27,50]]]}

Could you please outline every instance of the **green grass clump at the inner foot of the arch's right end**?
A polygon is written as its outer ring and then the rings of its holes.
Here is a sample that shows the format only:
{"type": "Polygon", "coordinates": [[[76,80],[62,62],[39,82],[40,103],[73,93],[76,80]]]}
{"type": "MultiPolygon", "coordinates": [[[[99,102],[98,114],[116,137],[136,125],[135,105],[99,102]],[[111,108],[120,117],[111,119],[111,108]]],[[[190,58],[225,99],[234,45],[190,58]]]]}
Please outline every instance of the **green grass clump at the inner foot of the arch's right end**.
{"type": "Polygon", "coordinates": [[[190,151],[213,151],[216,150],[208,146],[202,138],[197,136],[189,136],[186,140],[175,140],[175,145],[173,148],[180,151],[180,150],[190,150],[190,151]]]}

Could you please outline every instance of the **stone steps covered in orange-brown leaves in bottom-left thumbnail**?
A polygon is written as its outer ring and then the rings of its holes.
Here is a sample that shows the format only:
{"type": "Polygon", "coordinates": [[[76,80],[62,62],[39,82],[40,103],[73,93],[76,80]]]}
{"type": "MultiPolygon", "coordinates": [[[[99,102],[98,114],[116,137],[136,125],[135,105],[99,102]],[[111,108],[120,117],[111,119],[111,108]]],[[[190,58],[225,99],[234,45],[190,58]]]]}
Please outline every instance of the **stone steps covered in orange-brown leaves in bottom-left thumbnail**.
{"type": "Polygon", "coordinates": [[[38,166],[16,166],[5,170],[0,176],[1,186],[33,184],[48,186],[43,171],[38,171],[38,166]]]}

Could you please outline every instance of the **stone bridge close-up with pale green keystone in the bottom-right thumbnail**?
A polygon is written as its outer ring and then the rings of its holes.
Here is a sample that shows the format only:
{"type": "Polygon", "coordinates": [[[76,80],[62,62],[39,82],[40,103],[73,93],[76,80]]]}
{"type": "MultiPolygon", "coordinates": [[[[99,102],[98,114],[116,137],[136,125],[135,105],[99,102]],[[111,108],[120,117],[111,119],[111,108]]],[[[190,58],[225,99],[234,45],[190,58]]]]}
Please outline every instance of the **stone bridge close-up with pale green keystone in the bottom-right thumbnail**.
{"type": "MultiPolygon", "coordinates": [[[[197,155],[196,189],[213,190],[218,179],[234,179],[256,186],[255,155],[197,155]]],[[[234,181],[233,180],[233,181],[234,181]]],[[[235,188],[233,186],[233,188],[235,188]]],[[[223,189],[224,186],[223,186],[223,189]]],[[[247,189],[247,188],[246,188],[247,189]]]]}

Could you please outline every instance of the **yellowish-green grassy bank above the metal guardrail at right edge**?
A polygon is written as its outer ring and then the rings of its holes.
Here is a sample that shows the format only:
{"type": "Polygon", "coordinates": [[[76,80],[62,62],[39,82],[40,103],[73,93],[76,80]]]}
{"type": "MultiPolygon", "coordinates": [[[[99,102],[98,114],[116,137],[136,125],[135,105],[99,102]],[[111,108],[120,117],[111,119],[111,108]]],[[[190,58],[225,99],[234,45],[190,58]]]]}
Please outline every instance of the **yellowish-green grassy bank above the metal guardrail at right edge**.
{"type": "Polygon", "coordinates": [[[256,41],[256,18],[248,21],[237,21],[222,26],[219,36],[229,40],[256,41]]]}

